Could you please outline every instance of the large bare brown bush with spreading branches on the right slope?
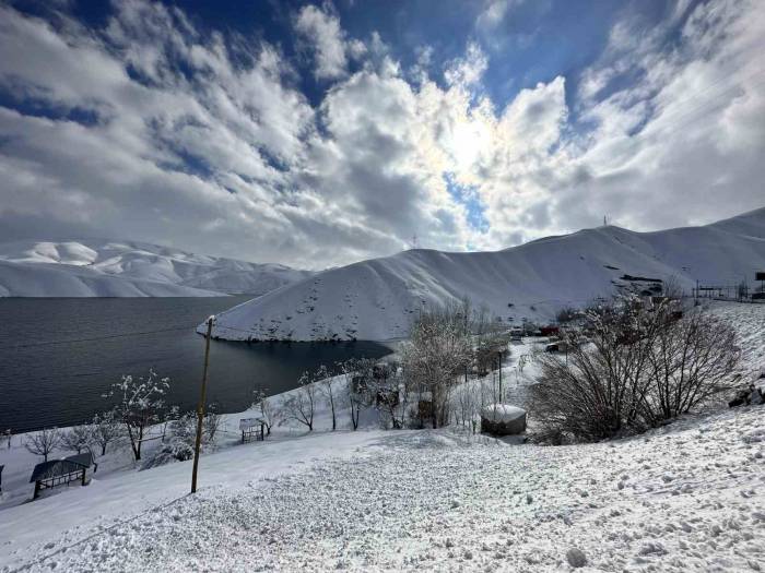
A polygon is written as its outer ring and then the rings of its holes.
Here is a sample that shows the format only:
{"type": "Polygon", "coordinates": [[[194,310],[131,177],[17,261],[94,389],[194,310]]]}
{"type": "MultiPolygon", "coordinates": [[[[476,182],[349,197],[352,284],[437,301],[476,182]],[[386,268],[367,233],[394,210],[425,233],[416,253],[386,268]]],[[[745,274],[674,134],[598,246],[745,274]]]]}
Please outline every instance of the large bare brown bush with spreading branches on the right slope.
{"type": "Polygon", "coordinates": [[[726,392],[738,361],[730,324],[676,302],[622,298],[584,313],[590,338],[564,333],[566,357],[542,355],[529,409],[542,440],[593,441],[644,431],[726,392]]]}

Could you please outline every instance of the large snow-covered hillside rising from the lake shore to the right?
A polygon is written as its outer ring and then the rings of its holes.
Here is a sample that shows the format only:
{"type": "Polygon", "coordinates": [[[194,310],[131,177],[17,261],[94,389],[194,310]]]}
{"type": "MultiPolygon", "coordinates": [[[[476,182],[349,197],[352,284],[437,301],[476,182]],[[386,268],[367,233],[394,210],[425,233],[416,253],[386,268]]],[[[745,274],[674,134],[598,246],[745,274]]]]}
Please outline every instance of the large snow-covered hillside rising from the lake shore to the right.
{"type": "MultiPolygon", "coordinates": [[[[735,285],[765,270],[765,208],[704,227],[634,232],[585,229],[496,252],[411,250],[332,268],[219,315],[226,339],[370,339],[405,336],[423,306],[468,296],[503,321],[550,320],[620,287],[676,277],[735,285]]],[[[202,326],[200,326],[201,332],[202,326]]]]}

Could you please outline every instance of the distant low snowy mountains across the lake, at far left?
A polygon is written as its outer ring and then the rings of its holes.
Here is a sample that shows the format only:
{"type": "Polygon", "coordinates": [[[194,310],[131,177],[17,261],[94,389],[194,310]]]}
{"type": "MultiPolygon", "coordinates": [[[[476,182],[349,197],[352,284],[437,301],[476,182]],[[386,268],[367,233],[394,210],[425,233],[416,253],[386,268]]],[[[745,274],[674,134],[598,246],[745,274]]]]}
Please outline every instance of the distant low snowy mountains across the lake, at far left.
{"type": "Polygon", "coordinates": [[[311,273],[133,241],[0,243],[0,296],[260,296],[311,273]]]}

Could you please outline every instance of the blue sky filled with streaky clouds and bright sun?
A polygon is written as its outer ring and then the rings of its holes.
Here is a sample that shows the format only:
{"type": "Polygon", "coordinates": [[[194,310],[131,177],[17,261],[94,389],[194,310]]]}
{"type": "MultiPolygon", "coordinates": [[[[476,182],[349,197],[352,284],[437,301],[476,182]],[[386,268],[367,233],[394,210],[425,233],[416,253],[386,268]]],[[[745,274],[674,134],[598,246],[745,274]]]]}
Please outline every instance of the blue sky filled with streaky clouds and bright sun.
{"type": "Polygon", "coordinates": [[[765,206],[758,0],[0,1],[0,241],[323,268],[765,206]]]}

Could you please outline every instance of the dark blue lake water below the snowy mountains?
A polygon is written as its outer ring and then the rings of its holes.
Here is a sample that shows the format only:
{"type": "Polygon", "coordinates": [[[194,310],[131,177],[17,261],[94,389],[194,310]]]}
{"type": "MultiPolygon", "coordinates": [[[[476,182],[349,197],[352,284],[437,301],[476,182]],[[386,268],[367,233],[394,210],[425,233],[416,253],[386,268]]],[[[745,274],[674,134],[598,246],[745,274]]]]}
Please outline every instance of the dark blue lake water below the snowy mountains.
{"type": "MultiPolygon", "coordinates": [[[[0,431],[90,420],[108,407],[102,394],[122,374],[150,368],[170,378],[168,403],[193,408],[204,359],[204,337],[195,327],[248,298],[0,298],[0,431]]],[[[389,351],[370,342],[212,341],[208,397],[223,411],[238,411],[256,384],[276,394],[321,363],[389,351]]]]}

